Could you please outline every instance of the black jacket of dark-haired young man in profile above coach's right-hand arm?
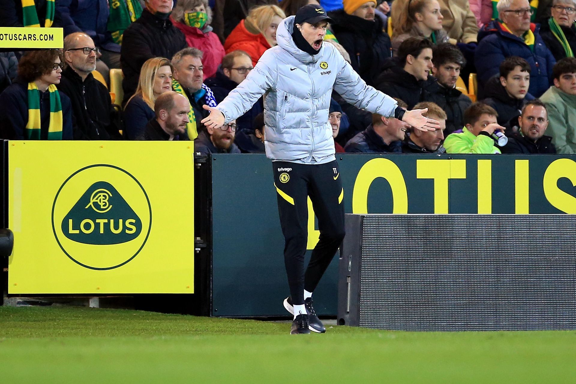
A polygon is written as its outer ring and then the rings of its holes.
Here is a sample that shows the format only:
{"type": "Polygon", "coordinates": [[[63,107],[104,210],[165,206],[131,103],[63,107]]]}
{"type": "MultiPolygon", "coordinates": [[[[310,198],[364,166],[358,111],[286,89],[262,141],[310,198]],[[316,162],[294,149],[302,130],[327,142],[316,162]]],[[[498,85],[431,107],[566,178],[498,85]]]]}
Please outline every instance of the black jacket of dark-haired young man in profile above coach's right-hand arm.
{"type": "Polygon", "coordinates": [[[433,77],[429,76],[425,81],[416,79],[404,70],[404,66],[400,66],[397,58],[386,60],[383,70],[376,78],[374,87],[377,90],[406,102],[408,109],[428,100],[426,88],[434,81],[433,77]]]}

